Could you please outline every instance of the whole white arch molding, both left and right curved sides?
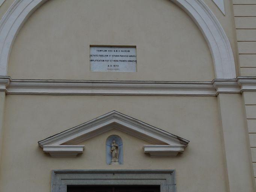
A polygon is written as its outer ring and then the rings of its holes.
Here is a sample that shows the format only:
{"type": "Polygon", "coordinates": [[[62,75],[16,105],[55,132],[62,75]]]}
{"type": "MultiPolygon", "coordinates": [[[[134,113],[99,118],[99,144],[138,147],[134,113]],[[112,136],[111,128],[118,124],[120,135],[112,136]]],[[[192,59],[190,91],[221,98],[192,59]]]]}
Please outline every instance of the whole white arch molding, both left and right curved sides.
{"type": "MultiPolygon", "coordinates": [[[[6,76],[14,39],[27,18],[47,0],[15,0],[0,21],[0,75],[6,76]]],[[[171,0],[193,19],[211,50],[215,78],[234,79],[235,62],[230,42],[214,13],[203,0],[171,0]]]]}

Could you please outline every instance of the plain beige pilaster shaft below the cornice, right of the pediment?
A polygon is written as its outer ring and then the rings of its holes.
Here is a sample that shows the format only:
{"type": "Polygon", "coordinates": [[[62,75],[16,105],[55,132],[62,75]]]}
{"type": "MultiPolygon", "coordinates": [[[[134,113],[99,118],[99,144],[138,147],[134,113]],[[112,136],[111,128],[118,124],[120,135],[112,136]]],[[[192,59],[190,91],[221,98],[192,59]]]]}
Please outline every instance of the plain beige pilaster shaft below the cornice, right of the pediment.
{"type": "Polygon", "coordinates": [[[254,192],[251,151],[242,95],[218,95],[230,192],[254,192]]]}

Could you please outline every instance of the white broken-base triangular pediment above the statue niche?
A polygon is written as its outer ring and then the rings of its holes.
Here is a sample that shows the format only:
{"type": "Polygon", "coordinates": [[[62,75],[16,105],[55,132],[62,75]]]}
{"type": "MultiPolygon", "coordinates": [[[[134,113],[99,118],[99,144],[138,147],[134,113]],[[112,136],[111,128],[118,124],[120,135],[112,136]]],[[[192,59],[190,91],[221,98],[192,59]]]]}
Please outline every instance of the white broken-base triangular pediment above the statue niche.
{"type": "Polygon", "coordinates": [[[150,156],[176,156],[183,153],[188,142],[179,136],[146,124],[117,111],[111,111],[86,123],[50,136],[38,144],[52,157],[74,157],[83,153],[84,145],[76,145],[87,139],[117,129],[152,143],[144,145],[144,153],[150,156]]]}

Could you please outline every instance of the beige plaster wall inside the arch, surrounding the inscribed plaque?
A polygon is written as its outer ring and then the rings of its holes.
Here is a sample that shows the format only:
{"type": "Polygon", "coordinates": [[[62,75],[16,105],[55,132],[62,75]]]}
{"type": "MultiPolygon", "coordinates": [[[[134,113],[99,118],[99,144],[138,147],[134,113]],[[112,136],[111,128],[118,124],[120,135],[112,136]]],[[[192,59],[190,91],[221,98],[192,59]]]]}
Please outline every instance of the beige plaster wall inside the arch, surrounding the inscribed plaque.
{"type": "Polygon", "coordinates": [[[169,0],[51,0],[21,28],[8,75],[28,79],[211,81],[196,24],[169,0]],[[136,45],[137,72],[90,72],[89,45],[136,45]]]}

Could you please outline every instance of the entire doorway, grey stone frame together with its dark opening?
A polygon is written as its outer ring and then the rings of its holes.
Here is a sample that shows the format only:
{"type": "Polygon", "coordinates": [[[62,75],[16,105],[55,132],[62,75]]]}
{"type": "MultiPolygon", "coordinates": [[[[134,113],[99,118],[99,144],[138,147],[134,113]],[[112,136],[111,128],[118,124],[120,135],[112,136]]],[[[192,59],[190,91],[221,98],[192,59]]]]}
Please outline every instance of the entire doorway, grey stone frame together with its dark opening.
{"type": "Polygon", "coordinates": [[[175,170],[53,170],[51,192],[176,192],[175,170]]]}

